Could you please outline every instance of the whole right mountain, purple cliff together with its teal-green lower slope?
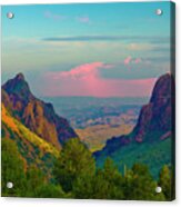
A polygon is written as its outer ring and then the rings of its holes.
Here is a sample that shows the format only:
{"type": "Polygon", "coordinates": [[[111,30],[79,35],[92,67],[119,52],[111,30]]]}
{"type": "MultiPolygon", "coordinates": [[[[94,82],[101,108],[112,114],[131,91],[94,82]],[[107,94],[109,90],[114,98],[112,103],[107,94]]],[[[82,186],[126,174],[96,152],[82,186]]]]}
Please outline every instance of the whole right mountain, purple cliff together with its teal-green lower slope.
{"type": "Polygon", "coordinates": [[[173,124],[174,80],[167,73],[155,82],[150,101],[142,107],[133,130],[109,139],[102,150],[94,152],[97,165],[102,166],[107,157],[120,168],[121,162],[128,166],[144,162],[158,176],[162,165],[172,164],[173,124]]]}

